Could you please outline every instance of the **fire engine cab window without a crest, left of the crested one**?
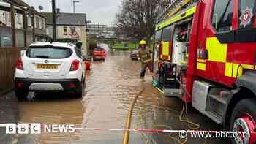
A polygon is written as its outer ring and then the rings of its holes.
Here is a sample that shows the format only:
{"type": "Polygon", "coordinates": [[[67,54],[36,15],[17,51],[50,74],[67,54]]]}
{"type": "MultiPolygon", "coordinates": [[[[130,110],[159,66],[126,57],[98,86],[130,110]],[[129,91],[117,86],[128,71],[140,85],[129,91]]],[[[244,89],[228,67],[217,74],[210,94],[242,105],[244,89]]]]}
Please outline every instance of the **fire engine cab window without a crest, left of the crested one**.
{"type": "Polygon", "coordinates": [[[216,0],[211,23],[216,31],[230,31],[232,26],[233,0],[216,0]]]}

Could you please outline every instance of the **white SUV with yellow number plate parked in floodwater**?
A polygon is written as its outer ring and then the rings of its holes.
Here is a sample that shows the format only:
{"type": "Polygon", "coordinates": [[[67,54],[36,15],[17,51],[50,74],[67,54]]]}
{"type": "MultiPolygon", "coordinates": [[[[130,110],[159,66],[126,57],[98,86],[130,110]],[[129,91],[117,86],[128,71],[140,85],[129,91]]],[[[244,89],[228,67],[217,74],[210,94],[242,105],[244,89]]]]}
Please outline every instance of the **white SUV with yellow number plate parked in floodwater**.
{"type": "Polygon", "coordinates": [[[82,96],[85,67],[72,43],[36,42],[18,59],[15,94],[26,99],[29,91],[69,91],[82,96]]]}

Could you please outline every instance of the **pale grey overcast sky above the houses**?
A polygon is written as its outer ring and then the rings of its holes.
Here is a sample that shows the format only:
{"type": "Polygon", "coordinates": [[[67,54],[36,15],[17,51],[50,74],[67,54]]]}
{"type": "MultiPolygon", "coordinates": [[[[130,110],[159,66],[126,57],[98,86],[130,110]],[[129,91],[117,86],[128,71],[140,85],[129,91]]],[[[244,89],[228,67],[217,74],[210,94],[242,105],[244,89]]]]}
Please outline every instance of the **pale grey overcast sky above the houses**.
{"type": "MultiPolygon", "coordinates": [[[[42,12],[51,12],[50,0],[23,0],[34,6],[38,10],[38,6],[42,5],[42,12]]],[[[121,0],[79,0],[80,3],[75,4],[75,12],[87,14],[87,19],[92,23],[101,23],[111,25],[115,21],[116,12],[119,10],[121,0]]],[[[61,12],[73,12],[72,0],[56,0],[56,8],[60,8],[61,12]]]]}

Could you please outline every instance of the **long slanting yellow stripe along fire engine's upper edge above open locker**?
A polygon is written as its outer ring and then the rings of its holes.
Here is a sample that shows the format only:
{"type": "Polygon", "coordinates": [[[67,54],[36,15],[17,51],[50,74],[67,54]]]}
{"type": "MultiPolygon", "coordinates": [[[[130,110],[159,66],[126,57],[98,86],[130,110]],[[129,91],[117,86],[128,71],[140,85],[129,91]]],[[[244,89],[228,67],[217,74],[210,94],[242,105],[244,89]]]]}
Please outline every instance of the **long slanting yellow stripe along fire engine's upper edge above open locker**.
{"type": "Polygon", "coordinates": [[[182,20],[184,18],[188,18],[190,15],[193,15],[195,13],[195,11],[196,11],[196,6],[190,8],[186,12],[182,12],[181,14],[176,15],[176,16],[166,20],[163,23],[160,23],[159,25],[157,25],[156,31],[158,31],[159,29],[163,29],[164,27],[169,26],[169,25],[171,25],[173,23],[176,23],[179,20],[182,20]]]}

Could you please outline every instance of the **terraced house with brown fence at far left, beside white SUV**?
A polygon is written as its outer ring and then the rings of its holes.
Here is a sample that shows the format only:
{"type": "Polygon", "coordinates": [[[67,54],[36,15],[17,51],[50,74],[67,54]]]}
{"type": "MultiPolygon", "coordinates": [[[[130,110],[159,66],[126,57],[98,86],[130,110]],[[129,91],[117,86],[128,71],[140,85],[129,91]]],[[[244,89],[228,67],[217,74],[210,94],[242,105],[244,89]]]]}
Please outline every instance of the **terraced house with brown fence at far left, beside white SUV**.
{"type": "MultiPolygon", "coordinates": [[[[47,41],[46,18],[22,0],[0,1],[0,91],[13,87],[20,50],[35,41],[47,41]]],[[[0,92],[0,93],[1,93],[0,92]]]]}

